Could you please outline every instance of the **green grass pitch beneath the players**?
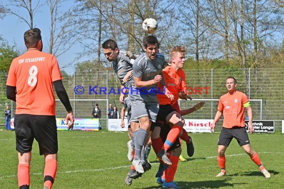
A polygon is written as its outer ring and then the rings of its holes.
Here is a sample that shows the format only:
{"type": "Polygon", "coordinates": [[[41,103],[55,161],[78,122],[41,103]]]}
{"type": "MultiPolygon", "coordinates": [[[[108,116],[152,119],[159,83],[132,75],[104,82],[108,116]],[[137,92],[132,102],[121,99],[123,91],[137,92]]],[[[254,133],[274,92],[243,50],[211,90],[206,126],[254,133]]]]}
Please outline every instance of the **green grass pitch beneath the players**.
{"type": "MultiPolygon", "coordinates": [[[[179,162],[175,182],[183,189],[283,189],[284,135],[252,134],[251,145],[271,173],[266,179],[249,156],[233,140],[226,152],[227,176],[219,173],[216,159],[219,133],[190,133],[195,154],[189,158],[186,145],[182,155],[188,160],[179,162]]],[[[58,169],[53,189],[160,189],[155,173],[158,161],[151,149],[152,169],[124,183],[131,162],[127,159],[126,132],[58,131],[58,169]]],[[[43,187],[44,160],[34,142],[30,167],[30,189],[43,187]]],[[[17,152],[13,131],[0,130],[0,189],[17,188],[17,152]]]]}

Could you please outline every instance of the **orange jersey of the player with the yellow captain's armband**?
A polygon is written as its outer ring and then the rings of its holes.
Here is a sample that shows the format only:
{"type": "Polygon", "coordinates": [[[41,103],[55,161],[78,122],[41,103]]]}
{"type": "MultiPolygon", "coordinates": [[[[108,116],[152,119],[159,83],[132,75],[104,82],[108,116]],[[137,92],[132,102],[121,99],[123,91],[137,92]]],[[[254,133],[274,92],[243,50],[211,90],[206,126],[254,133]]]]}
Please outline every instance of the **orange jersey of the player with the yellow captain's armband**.
{"type": "Polygon", "coordinates": [[[233,95],[227,93],[220,97],[217,109],[223,112],[223,127],[232,128],[245,126],[244,104],[248,101],[248,96],[238,91],[233,95]]]}

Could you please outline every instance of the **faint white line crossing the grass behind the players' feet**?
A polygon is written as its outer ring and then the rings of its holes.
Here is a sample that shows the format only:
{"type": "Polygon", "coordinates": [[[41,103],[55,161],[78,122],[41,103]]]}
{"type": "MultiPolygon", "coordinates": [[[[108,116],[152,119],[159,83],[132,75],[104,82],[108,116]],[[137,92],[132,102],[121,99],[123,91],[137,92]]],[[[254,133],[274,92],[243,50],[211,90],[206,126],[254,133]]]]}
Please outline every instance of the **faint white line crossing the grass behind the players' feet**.
{"type": "MultiPolygon", "coordinates": [[[[284,153],[284,152],[258,152],[258,154],[269,154],[269,153],[284,153]]],[[[231,154],[231,155],[226,155],[226,157],[244,156],[244,155],[247,155],[247,154],[231,154]]],[[[206,157],[205,159],[212,159],[212,158],[217,158],[217,156],[210,156],[210,157],[206,157]]],[[[151,165],[153,165],[153,164],[158,164],[158,163],[151,163],[151,165]]],[[[116,170],[116,169],[129,168],[129,167],[130,167],[130,165],[120,166],[120,167],[112,167],[112,168],[102,168],[102,169],[82,169],[82,170],[72,170],[72,171],[58,171],[57,174],[99,172],[99,171],[116,170]]],[[[42,173],[30,173],[30,175],[42,175],[42,173]]],[[[13,177],[17,177],[17,176],[16,175],[0,176],[0,179],[8,179],[8,178],[13,178],[13,177]]]]}

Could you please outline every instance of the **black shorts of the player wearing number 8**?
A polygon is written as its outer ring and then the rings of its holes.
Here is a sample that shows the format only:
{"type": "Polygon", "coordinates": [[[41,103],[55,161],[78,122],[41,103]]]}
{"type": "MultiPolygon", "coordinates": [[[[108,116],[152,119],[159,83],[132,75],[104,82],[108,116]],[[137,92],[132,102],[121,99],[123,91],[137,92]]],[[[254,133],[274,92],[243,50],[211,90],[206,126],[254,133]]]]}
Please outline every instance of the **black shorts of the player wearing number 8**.
{"type": "Polygon", "coordinates": [[[57,153],[57,127],[54,115],[16,114],[14,127],[18,152],[30,152],[35,139],[40,155],[57,153]]]}

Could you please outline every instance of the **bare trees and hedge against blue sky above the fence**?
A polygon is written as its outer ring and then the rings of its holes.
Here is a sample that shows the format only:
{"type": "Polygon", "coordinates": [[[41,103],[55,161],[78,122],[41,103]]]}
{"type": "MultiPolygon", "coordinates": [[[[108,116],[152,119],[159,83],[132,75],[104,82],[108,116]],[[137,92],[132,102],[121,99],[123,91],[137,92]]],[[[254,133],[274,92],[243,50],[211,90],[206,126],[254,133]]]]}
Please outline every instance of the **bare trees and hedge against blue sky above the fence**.
{"type": "MultiPolygon", "coordinates": [[[[75,44],[78,71],[108,69],[101,44],[116,40],[121,49],[142,53],[142,21],[158,22],[154,33],[161,53],[187,48],[185,69],[283,67],[284,3],[280,0],[5,0],[0,18],[17,17],[33,28],[39,11],[49,17],[48,51],[61,56],[75,44]],[[21,11],[19,11],[21,10],[21,11]],[[20,13],[19,13],[20,12],[20,13]],[[281,39],[281,40],[279,40],[281,39]],[[83,52],[83,53],[82,53],[83,52]]],[[[1,39],[0,71],[17,56],[15,44],[1,39]],[[9,56],[7,56],[8,52],[9,56]],[[2,64],[2,62],[4,64],[2,64]]],[[[72,66],[74,61],[64,67],[72,66]]],[[[249,81],[247,81],[249,82],[249,81]]]]}

